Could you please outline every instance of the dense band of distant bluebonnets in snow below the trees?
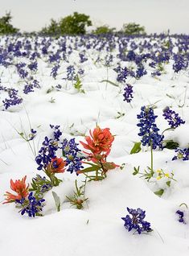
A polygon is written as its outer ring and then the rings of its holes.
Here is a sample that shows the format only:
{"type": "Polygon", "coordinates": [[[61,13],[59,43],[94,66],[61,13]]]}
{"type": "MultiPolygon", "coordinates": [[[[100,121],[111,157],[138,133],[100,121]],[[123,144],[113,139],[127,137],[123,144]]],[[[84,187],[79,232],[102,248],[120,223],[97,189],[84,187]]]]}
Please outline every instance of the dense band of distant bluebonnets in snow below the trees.
{"type": "Polygon", "coordinates": [[[104,38],[95,35],[80,36],[75,39],[66,36],[59,39],[42,39],[38,36],[21,39],[17,36],[7,36],[5,45],[2,44],[0,47],[0,64],[4,68],[14,67],[21,86],[17,97],[14,95],[14,98],[2,99],[4,108],[9,109],[11,105],[20,104],[23,101],[21,93],[28,94],[37,88],[31,81],[31,75],[40,73],[39,60],[43,60],[51,67],[50,75],[53,78],[57,77],[60,64],[68,63],[67,74],[63,79],[74,81],[77,74],[84,73],[81,67],[90,59],[86,53],[88,49],[92,49],[98,53],[97,57],[94,57],[97,58],[94,60],[95,63],[99,62],[107,67],[117,63],[118,67],[113,69],[117,72],[117,81],[125,83],[129,76],[136,79],[145,76],[149,72],[148,66],[152,69],[152,76],[161,76],[162,69],[159,67],[163,68],[164,65],[171,63],[171,60],[175,73],[187,70],[187,41],[186,35],[177,35],[175,40],[167,39],[166,35],[152,35],[148,39],[139,40],[139,43],[132,36],[125,38],[122,35],[106,35],[104,38]],[[177,53],[173,51],[175,46],[179,49],[177,53]],[[70,63],[72,54],[76,55],[76,52],[77,68],[70,63]]]}

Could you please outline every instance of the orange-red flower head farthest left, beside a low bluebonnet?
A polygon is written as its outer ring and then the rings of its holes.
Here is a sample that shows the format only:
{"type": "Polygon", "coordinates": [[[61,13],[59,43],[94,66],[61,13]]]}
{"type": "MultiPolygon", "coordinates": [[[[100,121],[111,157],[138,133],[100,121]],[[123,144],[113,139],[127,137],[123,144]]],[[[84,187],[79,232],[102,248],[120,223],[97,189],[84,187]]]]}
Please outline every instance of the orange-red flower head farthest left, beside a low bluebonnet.
{"type": "Polygon", "coordinates": [[[3,204],[12,203],[15,200],[21,200],[22,198],[27,197],[27,195],[29,194],[28,192],[29,184],[26,185],[26,180],[27,180],[27,175],[23,177],[22,180],[15,180],[15,182],[13,180],[10,180],[10,188],[14,192],[16,192],[17,195],[14,195],[10,192],[6,192],[5,194],[6,202],[4,202],[3,204]]]}

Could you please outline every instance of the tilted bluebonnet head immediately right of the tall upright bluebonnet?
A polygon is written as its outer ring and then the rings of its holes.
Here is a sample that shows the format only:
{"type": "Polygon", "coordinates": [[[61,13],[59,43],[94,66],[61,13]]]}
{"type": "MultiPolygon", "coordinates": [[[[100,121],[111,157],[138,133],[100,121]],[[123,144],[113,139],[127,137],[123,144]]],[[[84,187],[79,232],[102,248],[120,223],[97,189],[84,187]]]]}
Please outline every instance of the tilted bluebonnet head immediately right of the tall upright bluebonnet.
{"type": "Polygon", "coordinates": [[[179,114],[175,113],[175,111],[170,109],[169,107],[163,109],[162,116],[168,121],[171,128],[177,128],[181,124],[185,123],[185,121],[183,121],[183,119],[179,117],[179,114]]]}

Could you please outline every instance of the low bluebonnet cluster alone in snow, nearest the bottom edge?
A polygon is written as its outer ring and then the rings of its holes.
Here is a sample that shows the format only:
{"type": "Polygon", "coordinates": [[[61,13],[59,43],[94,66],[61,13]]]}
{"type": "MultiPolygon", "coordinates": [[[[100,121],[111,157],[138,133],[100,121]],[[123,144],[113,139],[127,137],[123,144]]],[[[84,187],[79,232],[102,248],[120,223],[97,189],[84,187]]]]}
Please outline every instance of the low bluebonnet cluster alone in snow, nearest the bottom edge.
{"type": "Polygon", "coordinates": [[[144,221],[144,218],[146,217],[146,211],[143,211],[140,208],[129,209],[129,207],[127,207],[127,211],[130,215],[126,215],[126,217],[121,217],[121,219],[125,221],[125,229],[127,229],[128,231],[135,229],[139,234],[145,231],[153,231],[153,229],[150,228],[150,222],[144,221]]]}

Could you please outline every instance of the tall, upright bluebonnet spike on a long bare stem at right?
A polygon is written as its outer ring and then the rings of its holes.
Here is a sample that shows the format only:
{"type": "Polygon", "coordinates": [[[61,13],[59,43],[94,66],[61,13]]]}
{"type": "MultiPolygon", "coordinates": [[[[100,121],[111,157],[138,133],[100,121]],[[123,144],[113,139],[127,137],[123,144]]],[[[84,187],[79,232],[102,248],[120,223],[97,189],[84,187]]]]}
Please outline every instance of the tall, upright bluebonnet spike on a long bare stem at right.
{"type": "Polygon", "coordinates": [[[140,127],[139,136],[142,137],[142,145],[150,146],[153,149],[157,147],[162,149],[162,140],[164,136],[158,134],[158,127],[155,124],[155,119],[158,116],[154,115],[154,109],[151,107],[142,106],[141,113],[137,115],[139,123],[137,124],[140,127]]]}

